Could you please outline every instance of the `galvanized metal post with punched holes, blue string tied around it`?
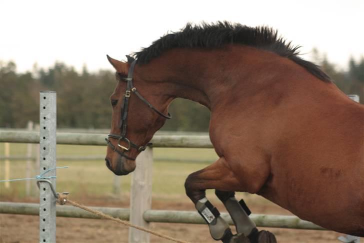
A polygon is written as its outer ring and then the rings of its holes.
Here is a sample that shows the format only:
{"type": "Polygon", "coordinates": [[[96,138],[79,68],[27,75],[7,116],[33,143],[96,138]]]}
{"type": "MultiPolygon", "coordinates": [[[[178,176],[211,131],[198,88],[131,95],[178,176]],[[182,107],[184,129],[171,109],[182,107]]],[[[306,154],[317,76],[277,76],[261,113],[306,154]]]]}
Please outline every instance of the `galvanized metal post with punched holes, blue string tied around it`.
{"type": "MultiPolygon", "coordinates": [[[[55,176],[56,147],[56,93],[40,92],[39,157],[40,174],[52,169],[44,176],[55,176]]],[[[55,178],[39,182],[39,242],[55,242],[55,201],[51,186],[55,190],[55,178]]]]}

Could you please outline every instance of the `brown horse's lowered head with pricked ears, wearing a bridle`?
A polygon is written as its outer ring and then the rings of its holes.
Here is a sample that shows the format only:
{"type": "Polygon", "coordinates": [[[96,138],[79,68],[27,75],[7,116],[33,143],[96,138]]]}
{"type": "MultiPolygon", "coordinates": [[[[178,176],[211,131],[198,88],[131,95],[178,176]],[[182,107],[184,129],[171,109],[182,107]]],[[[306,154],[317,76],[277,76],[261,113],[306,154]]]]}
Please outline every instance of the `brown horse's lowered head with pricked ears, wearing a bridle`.
{"type": "Polygon", "coordinates": [[[116,70],[118,82],[110,96],[112,121],[105,161],[116,175],[126,175],[135,169],[136,156],[151,145],[148,142],[153,134],[170,116],[163,113],[167,103],[134,72],[135,60],[128,57],[129,62],[124,63],[109,56],[107,59],[116,70]]]}

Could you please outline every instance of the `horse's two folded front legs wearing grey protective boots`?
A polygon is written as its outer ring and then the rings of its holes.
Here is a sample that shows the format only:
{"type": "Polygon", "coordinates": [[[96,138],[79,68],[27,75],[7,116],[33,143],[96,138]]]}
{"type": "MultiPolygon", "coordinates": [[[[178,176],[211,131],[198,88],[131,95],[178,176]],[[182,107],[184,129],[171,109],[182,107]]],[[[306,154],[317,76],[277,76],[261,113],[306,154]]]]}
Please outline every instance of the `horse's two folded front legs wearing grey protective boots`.
{"type": "MultiPolygon", "coordinates": [[[[254,181],[251,184],[254,184],[254,181]]],[[[207,222],[210,234],[214,239],[229,243],[276,242],[270,232],[257,231],[255,223],[235,199],[233,191],[252,191],[252,188],[251,185],[241,184],[241,180],[236,178],[223,157],[206,168],[190,174],[184,186],[187,196],[207,222]],[[205,197],[206,189],[216,189],[216,195],[224,203],[236,225],[237,236],[232,235],[228,224],[219,216],[218,210],[205,197]]]]}

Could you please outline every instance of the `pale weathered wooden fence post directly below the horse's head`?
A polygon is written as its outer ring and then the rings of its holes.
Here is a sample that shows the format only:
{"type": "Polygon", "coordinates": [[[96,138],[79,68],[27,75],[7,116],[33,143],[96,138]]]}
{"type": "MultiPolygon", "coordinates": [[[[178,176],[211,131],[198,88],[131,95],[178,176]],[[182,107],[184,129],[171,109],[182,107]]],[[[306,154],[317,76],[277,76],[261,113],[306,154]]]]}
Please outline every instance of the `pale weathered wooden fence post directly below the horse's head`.
{"type": "MultiPolygon", "coordinates": [[[[131,178],[130,191],[130,223],[149,227],[143,218],[145,210],[151,208],[151,179],[152,179],[153,151],[147,147],[136,158],[136,168],[131,178]]],[[[129,228],[129,242],[149,242],[149,233],[135,228],[129,228]]]]}

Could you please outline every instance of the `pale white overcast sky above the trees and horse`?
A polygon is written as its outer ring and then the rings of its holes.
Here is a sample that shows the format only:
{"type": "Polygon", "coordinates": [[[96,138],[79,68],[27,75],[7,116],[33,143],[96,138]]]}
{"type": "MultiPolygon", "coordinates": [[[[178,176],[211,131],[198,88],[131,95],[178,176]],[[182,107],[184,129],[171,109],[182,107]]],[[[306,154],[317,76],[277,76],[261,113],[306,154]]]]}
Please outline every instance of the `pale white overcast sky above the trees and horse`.
{"type": "Polygon", "coordinates": [[[0,60],[17,70],[49,67],[55,61],[91,71],[111,69],[116,59],[147,47],[187,22],[230,21],[265,25],[311,60],[316,47],[347,68],[364,55],[364,1],[17,1],[0,0],[0,60]]]}

